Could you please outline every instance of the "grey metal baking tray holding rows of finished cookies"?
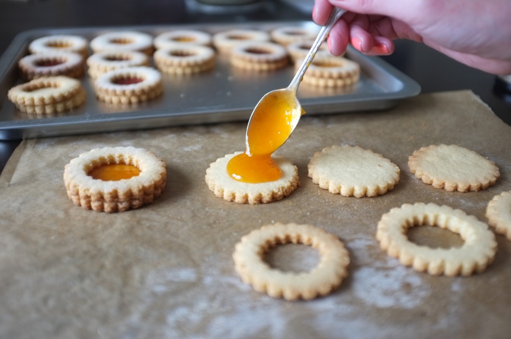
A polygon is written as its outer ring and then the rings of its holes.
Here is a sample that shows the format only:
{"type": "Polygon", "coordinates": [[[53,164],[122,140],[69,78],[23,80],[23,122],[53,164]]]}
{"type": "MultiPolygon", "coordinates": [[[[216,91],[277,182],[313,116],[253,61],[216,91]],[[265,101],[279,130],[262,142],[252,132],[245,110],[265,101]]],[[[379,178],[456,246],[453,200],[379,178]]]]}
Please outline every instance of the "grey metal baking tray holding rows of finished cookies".
{"type": "MultiPolygon", "coordinates": [[[[8,90],[22,82],[17,62],[28,54],[28,44],[36,38],[75,34],[90,41],[109,31],[136,30],[156,36],[174,29],[198,29],[215,34],[235,28],[270,31],[282,26],[316,27],[312,21],[285,21],[48,28],[22,32],[14,38],[0,59],[0,139],[248,120],[253,107],[266,92],[287,87],[294,75],[291,65],[264,73],[239,70],[230,66],[226,57],[219,55],[212,71],[192,76],[163,74],[164,94],[160,98],[136,106],[116,106],[96,100],[92,83],[85,74],[81,79],[87,92],[83,106],[59,115],[40,117],[17,111],[7,99],[8,90]]],[[[351,48],[347,50],[346,56],[361,66],[359,83],[339,89],[321,89],[301,84],[298,97],[307,115],[387,109],[396,105],[400,99],[414,96],[421,90],[419,84],[378,57],[367,57],[351,48]]]]}

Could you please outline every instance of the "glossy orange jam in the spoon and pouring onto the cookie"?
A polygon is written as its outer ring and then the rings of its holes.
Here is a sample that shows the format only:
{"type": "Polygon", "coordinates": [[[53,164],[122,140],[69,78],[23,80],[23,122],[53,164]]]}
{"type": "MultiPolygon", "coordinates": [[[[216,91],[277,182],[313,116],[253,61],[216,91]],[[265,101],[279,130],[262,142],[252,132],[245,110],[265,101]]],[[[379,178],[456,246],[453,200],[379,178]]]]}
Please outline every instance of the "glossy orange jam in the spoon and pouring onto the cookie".
{"type": "Polygon", "coordinates": [[[294,94],[288,90],[264,96],[250,118],[245,153],[227,163],[229,176],[247,183],[280,179],[281,168],[273,162],[271,154],[286,142],[293,131],[293,117],[303,113],[294,94]]]}

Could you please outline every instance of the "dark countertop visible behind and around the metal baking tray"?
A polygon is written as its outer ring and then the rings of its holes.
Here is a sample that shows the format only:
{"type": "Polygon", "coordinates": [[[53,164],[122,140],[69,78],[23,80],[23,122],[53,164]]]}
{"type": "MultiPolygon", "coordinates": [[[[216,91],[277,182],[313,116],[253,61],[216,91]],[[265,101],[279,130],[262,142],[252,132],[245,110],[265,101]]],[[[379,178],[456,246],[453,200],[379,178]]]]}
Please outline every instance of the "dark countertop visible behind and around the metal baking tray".
{"type": "MultiPolygon", "coordinates": [[[[0,0],[0,53],[16,34],[34,28],[136,26],[190,22],[244,22],[309,20],[310,14],[277,0],[262,0],[253,11],[204,13],[194,10],[195,0],[0,0]],[[192,6],[190,6],[192,5],[192,6]]],[[[396,52],[383,57],[417,81],[422,92],[471,89],[505,123],[511,125],[511,94],[501,94],[497,77],[464,66],[411,41],[397,41],[396,52]]],[[[5,95],[5,94],[4,94],[5,95]]],[[[0,141],[0,169],[3,169],[19,140],[0,141]]]]}

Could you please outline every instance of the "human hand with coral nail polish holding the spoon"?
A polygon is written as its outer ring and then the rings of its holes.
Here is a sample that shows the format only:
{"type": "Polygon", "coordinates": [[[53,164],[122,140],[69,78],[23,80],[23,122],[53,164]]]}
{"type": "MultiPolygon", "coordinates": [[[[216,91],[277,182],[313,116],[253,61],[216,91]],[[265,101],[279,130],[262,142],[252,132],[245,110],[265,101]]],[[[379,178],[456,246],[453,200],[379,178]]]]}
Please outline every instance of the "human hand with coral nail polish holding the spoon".
{"type": "Polygon", "coordinates": [[[509,0],[315,0],[318,25],[333,6],[348,10],[327,40],[332,54],[348,43],[367,55],[394,51],[394,39],[424,42],[466,65],[494,74],[511,74],[509,0]]]}

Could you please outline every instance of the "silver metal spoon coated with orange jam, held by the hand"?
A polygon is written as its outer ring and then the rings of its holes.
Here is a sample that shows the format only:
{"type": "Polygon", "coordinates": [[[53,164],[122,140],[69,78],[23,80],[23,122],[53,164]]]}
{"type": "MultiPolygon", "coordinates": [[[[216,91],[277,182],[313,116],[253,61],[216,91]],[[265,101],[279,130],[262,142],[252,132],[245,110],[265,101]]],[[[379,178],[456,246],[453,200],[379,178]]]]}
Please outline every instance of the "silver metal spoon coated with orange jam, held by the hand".
{"type": "MultiPolygon", "coordinates": [[[[319,46],[323,43],[324,39],[327,38],[334,24],[345,12],[346,10],[339,9],[337,7],[333,9],[326,25],[321,27],[321,30],[312,44],[309,53],[296,71],[296,74],[289,86],[266,93],[255,106],[252,114],[250,115],[250,119],[248,120],[245,137],[245,153],[247,155],[268,155],[273,153],[286,142],[291,133],[294,131],[300,116],[305,113],[297,98],[298,85],[300,84],[305,71],[311,64],[312,59],[316,55],[316,52],[319,50],[319,46]],[[283,103],[286,103],[287,105],[284,106],[289,109],[286,109],[285,111],[269,112],[272,107],[282,107],[283,103]],[[284,125],[287,125],[287,130],[282,131],[280,128],[268,129],[268,119],[265,117],[267,114],[285,114],[286,116],[280,118],[284,119],[282,121],[285,122],[284,125]],[[265,133],[262,135],[261,124],[264,123],[266,123],[267,126],[263,128],[265,133]]],[[[268,118],[273,119],[275,117],[268,118]]]]}

